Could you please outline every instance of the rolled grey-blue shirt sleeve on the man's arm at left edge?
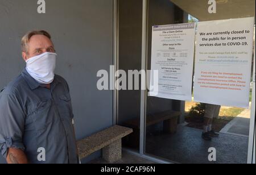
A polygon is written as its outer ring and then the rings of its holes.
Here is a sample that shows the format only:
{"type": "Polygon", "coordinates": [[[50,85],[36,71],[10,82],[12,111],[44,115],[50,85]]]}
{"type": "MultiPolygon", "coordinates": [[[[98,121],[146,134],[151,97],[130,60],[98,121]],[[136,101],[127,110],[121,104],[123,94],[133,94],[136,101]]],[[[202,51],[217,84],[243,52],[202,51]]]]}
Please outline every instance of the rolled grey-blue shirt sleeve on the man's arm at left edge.
{"type": "Polygon", "coordinates": [[[15,93],[0,93],[0,153],[7,157],[8,148],[24,151],[22,135],[25,114],[15,93]]]}

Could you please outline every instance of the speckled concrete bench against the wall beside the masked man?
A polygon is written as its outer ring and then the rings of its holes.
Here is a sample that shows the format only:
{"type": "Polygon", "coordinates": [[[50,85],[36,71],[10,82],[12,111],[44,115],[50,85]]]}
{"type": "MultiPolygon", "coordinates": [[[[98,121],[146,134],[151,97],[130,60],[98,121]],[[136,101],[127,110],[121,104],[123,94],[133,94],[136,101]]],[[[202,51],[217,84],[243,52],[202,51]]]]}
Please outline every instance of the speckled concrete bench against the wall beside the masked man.
{"type": "Polygon", "coordinates": [[[122,138],[132,132],[131,128],[115,125],[77,141],[80,159],[102,149],[102,158],[108,163],[120,160],[122,158],[122,138]]]}

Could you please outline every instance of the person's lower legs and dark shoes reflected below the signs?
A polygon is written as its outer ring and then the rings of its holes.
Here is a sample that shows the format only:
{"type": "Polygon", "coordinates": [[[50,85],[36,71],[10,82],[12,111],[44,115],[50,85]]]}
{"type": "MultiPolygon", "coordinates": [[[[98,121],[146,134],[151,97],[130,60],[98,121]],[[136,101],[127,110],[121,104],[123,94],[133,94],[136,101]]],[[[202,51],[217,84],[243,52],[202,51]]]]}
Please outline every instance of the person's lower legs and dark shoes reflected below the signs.
{"type": "Polygon", "coordinates": [[[217,138],[219,135],[214,132],[212,128],[213,118],[215,115],[220,113],[221,106],[219,105],[205,105],[205,114],[204,114],[204,131],[202,138],[204,140],[212,140],[212,137],[217,138]]]}

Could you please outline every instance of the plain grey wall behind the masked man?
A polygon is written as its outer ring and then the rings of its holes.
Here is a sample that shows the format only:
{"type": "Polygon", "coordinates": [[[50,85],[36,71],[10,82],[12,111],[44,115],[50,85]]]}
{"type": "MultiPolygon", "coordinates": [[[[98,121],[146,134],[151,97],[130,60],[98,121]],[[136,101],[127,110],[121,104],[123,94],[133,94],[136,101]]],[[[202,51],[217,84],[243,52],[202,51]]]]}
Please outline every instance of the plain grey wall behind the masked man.
{"type": "Polygon", "coordinates": [[[46,14],[37,8],[35,0],[0,1],[0,89],[25,66],[22,36],[44,29],[58,53],[56,73],[71,89],[77,139],[111,126],[113,92],[97,90],[96,73],[113,64],[113,0],[46,0],[46,14]]]}

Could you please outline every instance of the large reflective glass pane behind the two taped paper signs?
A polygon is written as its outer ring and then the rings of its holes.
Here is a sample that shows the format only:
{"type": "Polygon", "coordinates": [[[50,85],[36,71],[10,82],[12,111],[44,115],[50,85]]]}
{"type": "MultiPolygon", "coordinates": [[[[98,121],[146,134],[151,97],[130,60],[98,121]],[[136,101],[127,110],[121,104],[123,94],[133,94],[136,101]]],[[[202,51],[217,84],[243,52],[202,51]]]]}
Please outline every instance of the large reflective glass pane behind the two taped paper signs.
{"type": "MultiPolygon", "coordinates": [[[[210,14],[207,1],[148,0],[147,69],[151,69],[152,26],[255,16],[255,1],[216,1],[216,5],[217,13],[210,14]]],[[[212,112],[211,128],[218,134],[212,141],[202,138],[204,116],[194,115],[202,110],[204,103],[147,96],[144,153],[174,163],[247,163],[250,122],[255,118],[251,110],[221,106],[212,112]],[[209,161],[212,148],[217,161],[209,161]]]]}

